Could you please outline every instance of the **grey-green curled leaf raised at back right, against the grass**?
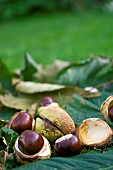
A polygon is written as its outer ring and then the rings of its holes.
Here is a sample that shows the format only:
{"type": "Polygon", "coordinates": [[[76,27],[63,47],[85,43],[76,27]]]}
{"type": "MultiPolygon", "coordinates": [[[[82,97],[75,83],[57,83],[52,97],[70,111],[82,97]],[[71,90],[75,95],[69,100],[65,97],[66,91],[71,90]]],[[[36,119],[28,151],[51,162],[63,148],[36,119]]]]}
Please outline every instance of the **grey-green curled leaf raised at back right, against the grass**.
{"type": "Polygon", "coordinates": [[[79,86],[83,86],[86,82],[89,84],[89,79],[93,80],[95,75],[109,64],[110,60],[102,57],[96,57],[75,64],[71,63],[58,74],[58,83],[79,86]]]}

